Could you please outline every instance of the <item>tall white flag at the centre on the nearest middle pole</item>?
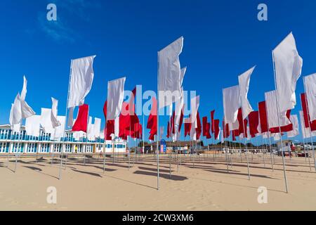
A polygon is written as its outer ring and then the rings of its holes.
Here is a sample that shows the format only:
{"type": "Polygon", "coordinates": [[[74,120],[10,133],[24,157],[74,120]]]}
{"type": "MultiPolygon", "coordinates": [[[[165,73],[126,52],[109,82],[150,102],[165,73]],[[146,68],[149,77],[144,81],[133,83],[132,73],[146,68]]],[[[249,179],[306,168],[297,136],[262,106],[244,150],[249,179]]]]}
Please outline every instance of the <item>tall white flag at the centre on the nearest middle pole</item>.
{"type": "Polygon", "coordinates": [[[180,37],[162,51],[159,51],[159,108],[171,105],[180,98],[183,78],[181,78],[179,56],[182,49],[183,37],[180,37]]]}

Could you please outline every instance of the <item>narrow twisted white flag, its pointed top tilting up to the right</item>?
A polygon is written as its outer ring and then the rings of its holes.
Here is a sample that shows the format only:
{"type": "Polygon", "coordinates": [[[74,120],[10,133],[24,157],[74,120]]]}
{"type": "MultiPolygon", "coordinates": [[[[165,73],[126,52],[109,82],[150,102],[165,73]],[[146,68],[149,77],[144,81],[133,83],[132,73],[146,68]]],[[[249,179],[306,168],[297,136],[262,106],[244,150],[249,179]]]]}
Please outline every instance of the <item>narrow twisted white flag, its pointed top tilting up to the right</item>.
{"type": "Polygon", "coordinates": [[[254,66],[250,70],[247,70],[246,72],[244,72],[242,75],[238,77],[243,119],[245,119],[249,115],[249,113],[254,111],[251,108],[251,105],[248,101],[250,77],[251,77],[252,72],[254,72],[254,68],[256,68],[256,66],[254,66]]]}

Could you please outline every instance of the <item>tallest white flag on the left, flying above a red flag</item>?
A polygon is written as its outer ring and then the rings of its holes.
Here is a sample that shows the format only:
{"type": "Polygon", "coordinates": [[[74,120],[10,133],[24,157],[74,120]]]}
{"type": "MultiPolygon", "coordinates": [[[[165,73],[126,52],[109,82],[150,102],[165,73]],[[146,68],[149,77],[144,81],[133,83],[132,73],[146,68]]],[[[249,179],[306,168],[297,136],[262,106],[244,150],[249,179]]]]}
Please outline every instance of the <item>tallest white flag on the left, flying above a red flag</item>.
{"type": "Polygon", "coordinates": [[[72,60],[68,108],[84,104],[84,98],[91,90],[93,82],[93,60],[95,57],[88,56],[72,60]]]}

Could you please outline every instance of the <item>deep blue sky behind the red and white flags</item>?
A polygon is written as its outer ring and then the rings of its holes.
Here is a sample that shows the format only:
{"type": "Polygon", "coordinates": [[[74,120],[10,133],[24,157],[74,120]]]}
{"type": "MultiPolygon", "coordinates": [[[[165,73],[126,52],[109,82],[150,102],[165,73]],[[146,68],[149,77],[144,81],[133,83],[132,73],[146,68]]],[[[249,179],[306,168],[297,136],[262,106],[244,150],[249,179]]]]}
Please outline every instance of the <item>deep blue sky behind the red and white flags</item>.
{"type": "MultiPolygon", "coordinates": [[[[84,1],[4,0],[1,25],[0,123],[8,123],[11,103],[28,79],[27,102],[39,114],[59,100],[65,113],[70,60],[97,55],[93,88],[86,98],[90,114],[103,118],[107,82],[126,76],[126,89],[142,84],[157,89],[157,51],[184,37],[184,87],[201,96],[200,115],[223,117],[222,89],[257,65],[249,101],[254,109],[274,89],[271,51],[294,33],[303,58],[303,75],[316,71],[315,1],[84,1]],[[57,22],[46,20],[55,3],[57,22]],[[257,20],[257,6],[268,5],[268,21],[257,20]]],[[[296,89],[298,105],[303,81],[296,89]]],[[[147,120],[147,118],[145,119],[147,120]]],[[[166,120],[163,120],[166,126],[166,120]]],[[[148,131],[146,132],[146,136],[148,131]]],[[[298,137],[297,139],[301,139],[298,137]]]]}

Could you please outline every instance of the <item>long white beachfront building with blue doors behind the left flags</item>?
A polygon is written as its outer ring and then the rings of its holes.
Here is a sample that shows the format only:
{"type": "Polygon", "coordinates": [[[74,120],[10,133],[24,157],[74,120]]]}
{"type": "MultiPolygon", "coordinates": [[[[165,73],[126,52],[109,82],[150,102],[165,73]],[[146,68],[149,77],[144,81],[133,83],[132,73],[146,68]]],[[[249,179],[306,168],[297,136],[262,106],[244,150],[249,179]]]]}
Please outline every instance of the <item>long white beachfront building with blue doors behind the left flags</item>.
{"type": "Polygon", "coordinates": [[[11,130],[10,125],[0,126],[0,154],[1,153],[126,153],[126,141],[115,139],[104,141],[96,138],[88,141],[85,137],[74,138],[72,131],[66,131],[65,137],[60,141],[51,140],[51,134],[40,131],[38,137],[26,134],[22,126],[20,132],[11,130]]]}

